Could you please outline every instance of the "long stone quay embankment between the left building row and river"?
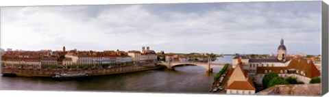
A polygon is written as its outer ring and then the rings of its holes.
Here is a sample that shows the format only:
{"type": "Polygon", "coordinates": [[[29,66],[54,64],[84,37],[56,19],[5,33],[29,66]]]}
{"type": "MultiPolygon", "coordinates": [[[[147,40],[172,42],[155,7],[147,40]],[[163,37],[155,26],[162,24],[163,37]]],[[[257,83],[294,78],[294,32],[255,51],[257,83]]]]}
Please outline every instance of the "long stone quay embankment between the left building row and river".
{"type": "Polygon", "coordinates": [[[1,68],[1,72],[10,72],[18,77],[53,77],[54,74],[88,74],[89,76],[101,76],[108,74],[121,74],[128,72],[139,72],[145,70],[156,70],[161,66],[125,66],[118,68],[101,68],[97,70],[19,70],[12,68],[1,68]]]}

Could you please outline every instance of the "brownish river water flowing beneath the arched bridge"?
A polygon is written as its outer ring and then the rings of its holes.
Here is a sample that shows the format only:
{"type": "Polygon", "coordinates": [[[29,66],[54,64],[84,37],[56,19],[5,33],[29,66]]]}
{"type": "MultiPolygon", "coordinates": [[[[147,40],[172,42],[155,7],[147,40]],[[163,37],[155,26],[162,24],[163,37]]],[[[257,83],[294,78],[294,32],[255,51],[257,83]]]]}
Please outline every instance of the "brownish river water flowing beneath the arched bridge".
{"type": "MultiPolygon", "coordinates": [[[[218,57],[212,63],[232,63],[233,56],[218,57]]],[[[212,73],[199,66],[179,66],[175,70],[148,70],[125,74],[91,77],[80,81],[53,81],[40,77],[0,77],[1,89],[39,91],[97,91],[97,92],[164,92],[209,93],[212,73]]]]}

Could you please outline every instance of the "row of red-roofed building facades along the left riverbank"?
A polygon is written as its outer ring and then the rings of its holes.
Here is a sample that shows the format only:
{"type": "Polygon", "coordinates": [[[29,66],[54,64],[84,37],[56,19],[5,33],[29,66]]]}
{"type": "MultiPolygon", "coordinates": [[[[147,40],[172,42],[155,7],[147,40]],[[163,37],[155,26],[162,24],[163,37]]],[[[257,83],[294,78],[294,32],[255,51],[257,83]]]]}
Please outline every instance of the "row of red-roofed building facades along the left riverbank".
{"type": "MultiPolygon", "coordinates": [[[[137,52],[137,51],[136,51],[137,52]]],[[[3,64],[29,64],[29,65],[53,65],[62,64],[69,66],[72,64],[111,64],[124,62],[156,61],[157,56],[154,51],[139,52],[135,56],[132,51],[77,51],[76,49],[66,51],[5,51],[1,55],[3,64]]]]}

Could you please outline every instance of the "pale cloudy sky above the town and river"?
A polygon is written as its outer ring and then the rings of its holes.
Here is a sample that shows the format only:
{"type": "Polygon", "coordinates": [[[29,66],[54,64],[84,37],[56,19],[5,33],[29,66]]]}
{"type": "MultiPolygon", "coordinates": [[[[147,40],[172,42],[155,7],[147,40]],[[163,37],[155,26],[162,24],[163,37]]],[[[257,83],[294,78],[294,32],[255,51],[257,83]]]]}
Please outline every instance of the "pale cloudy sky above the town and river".
{"type": "Polygon", "coordinates": [[[321,54],[321,1],[1,7],[1,48],[321,54]]]}

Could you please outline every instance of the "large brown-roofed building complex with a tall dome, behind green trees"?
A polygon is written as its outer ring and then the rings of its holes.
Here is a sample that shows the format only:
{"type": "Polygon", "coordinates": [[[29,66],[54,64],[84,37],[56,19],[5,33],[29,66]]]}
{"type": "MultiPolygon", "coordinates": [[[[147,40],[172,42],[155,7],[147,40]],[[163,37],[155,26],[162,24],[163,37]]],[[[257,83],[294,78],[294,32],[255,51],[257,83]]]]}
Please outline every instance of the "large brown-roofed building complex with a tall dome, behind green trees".
{"type": "Polygon", "coordinates": [[[267,58],[249,59],[245,55],[236,54],[236,57],[232,59],[232,68],[236,68],[239,58],[241,58],[241,66],[249,71],[248,74],[252,81],[260,85],[263,83],[263,77],[268,72],[276,72],[284,78],[294,77],[297,78],[297,81],[304,83],[309,83],[310,79],[321,76],[321,72],[311,59],[288,57],[283,39],[280,40],[276,55],[269,55],[267,58]]]}

